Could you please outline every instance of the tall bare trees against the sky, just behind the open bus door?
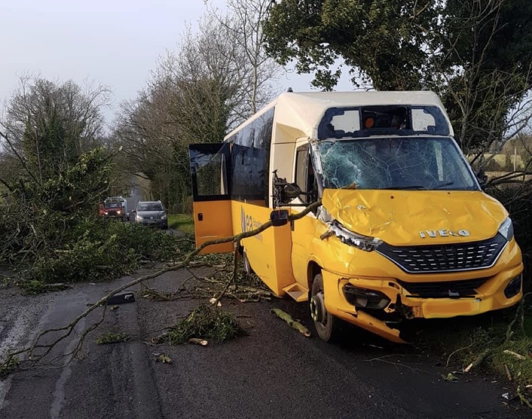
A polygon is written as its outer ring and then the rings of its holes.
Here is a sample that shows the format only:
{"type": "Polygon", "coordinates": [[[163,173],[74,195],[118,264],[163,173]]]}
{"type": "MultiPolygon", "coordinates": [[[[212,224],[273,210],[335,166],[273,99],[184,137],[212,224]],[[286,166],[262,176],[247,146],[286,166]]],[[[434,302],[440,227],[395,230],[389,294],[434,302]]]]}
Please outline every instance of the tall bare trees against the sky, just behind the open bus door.
{"type": "Polygon", "coordinates": [[[246,44],[235,24],[210,13],[197,33],[187,28],[177,51],[160,58],[148,85],[122,104],[117,119],[115,140],[128,170],[142,172],[154,195],[178,210],[190,195],[188,144],[221,142],[272,98],[273,73],[262,71],[271,62],[260,48],[245,49],[255,41],[246,44]]]}

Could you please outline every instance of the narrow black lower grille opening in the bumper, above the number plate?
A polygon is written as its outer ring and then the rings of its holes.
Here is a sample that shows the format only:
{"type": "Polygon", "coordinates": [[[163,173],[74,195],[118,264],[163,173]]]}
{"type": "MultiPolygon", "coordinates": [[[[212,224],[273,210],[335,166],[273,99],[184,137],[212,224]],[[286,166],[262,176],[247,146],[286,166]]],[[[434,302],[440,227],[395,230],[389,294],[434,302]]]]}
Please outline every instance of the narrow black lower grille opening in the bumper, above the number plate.
{"type": "Polygon", "coordinates": [[[414,282],[397,280],[410,294],[422,298],[467,297],[477,294],[488,278],[464,279],[461,281],[414,282]]]}

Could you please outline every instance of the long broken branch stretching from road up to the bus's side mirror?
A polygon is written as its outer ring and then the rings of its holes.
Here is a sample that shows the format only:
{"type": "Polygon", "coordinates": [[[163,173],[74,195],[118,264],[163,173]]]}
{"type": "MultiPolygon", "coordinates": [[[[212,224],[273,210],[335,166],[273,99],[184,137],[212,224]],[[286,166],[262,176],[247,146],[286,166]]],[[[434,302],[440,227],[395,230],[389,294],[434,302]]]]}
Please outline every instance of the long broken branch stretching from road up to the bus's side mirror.
{"type": "MultiPolygon", "coordinates": [[[[305,215],[307,215],[307,213],[318,209],[318,207],[320,207],[320,206],[321,206],[321,200],[313,202],[309,206],[307,206],[303,211],[298,212],[296,214],[289,215],[288,216],[288,221],[295,221],[295,220],[298,220],[300,218],[303,218],[305,215]]],[[[181,268],[185,268],[190,263],[190,260],[195,255],[200,253],[203,249],[205,249],[205,247],[212,246],[214,244],[229,243],[229,242],[239,243],[240,240],[242,240],[243,238],[255,236],[255,235],[263,232],[265,229],[270,228],[271,225],[272,225],[271,224],[271,220],[268,220],[268,221],[266,221],[266,223],[264,223],[260,227],[257,227],[257,228],[255,228],[253,230],[248,231],[248,232],[239,233],[239,234],[237,234],[235,236],[231,236],[231,237],[219,238],[218,240],[210,240],[208,242],[205,242],[205,243],[201,244],[200,246],[197,246],[196,249],[194,249],[192,252],[187,253],[185,258],[181,262],[173,264],[172,266],[165,266],[164,268],[162,268],[162,269],[160,269],[160,270],[158,270],[156,272],[148,273],[147,275],[143,275],[143,276],[138,277],[137,279],[129,281],[127,284],[124,284],[124,285],[114,289],[109,294],[107,294],[104,297],[100,298],[96,303],[94,303],[93,305],[88,307],[87,310],[85,310],[84,312],[79,314],[78,317],[74,318],[70,323],[66,324],[65,326],[60,327],[60,328],[47,329],[47,330],[44,330],[43,332],[40,332],[40,334],[35,338],[34,342],[31,344],[30,347],[27,347],[27,348],[24,348],[24,349],[20,349],[20,350],[17,350],[15,352],[7,354],[5,361],[4,362],[0,362],[0,366],[2,366],[2,365],[10,365],[13,362],[13,360],[16,360],[16,357],[18,357],[18,355],[24,355],[24,354],[27,355],[27,359],[26,360],[22,360],[22,361],[31,361],[31,363],[32,363],[31,366],[36,366],[37,364],[42,363],[42,361],[51,352],[52,348],[55,345],[59,344],[63,339],[67,338],[68,336],[70,336],[72,334],[74,328],[76,327],[76,325],[78,324],[78,322],[81,319],[87,317],[88,314],[90,314],[91,312],[96,310],[98,307],[100,307],[102,305],[105,306],[106,303],[107,303],[107,300],[109,300],[109,298],[111,298],[113,295],[118,294],[121,291],[123,291],[124,289],[130,288],[130,287],[132,287],[134,285],[143,283],[144,281],[147,281],[148,279],[153,279],[153,278],[159,277],[165,272],[169,272],[169,271],[174,271],[174,270],[178,270],[178,269],[181,269],[181,268]],[[52,343],[50,343],[50,344],[41,343],[41,340],[44,337],[46,337],[47,335],[52,334],[54,332],[60,332],[60,331],[63,331],[63,334],[61,336],[57,337],[52,343]],[[44,349],[44,353],[34,354],[34,350],[35,349],[44,349]]],[[[105,312],[104,312],[104,314],[105,314],[105,312]]],[[[80,337],[79,337],[79,340],[78,340],[78,345],[76,345],[76,349],[74,349],[72,351],[72,353],[67,354],[65,356],[70,356],[70,360],[71,360],[76,355],[77,350],[79,350],[81,348],[82,341],[85,338],[85,336],[88,334],[88,332],[94,330],[98,326],[98,324],[102,322],[102,320],[103,320],[103,317],[102,317],[102,319],[100,319],[99,321],[95,322],[91,326],[87,327],[84,331],[82,331],[79,334],[80,337]]]]}

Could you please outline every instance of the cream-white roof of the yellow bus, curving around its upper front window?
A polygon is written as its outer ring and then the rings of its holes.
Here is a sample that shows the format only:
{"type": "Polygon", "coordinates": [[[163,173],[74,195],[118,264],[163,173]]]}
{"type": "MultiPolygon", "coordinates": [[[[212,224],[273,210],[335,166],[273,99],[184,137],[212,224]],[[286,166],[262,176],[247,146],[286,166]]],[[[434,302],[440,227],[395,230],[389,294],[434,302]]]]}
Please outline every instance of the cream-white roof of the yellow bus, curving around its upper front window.
{"type": "MultiPolygon", "coordinates": [[[[277,124],[292,127],[310,138],[316,138],[318,125],[327,109],[371,105],[437,106],[445,115],[450,135],[453,135],[451,122],[445,108],[436,93],[431,91],[285,92],[234,131],[275,106],[275,122],[277,124]]],[[[229,138],[233,132],[229,133],[226,138],[229,138]]],[[[275,142],[275,139],[273,141],[275,142]]]]}

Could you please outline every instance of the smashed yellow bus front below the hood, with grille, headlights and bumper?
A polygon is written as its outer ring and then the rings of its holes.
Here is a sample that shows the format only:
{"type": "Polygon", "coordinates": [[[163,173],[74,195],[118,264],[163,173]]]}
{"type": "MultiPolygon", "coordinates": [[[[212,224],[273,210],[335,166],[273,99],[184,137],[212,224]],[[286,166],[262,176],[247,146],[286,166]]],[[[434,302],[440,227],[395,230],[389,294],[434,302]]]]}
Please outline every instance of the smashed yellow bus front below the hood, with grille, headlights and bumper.
{"type": "Polygon", "coordinates": [[[412,326],[408,320],[475,315],[520,300],[522,264],[510,237],[498,234],[479,242],[410,246],[416,250],[407,254],[404,246],[352,232],[327,210],[327,196],[323,202],[317,214],[323,226],[320,242],[323,250],[331,252],[323,258],[329,261],[322,270],[325,305],[338,318],[401,343],[408,340],[412,326]],[[476,252],[474,269],[462,269],[462,265],[448,269],[461,263],[461,252],[476,252]],[[414,260],[418,253],[425,261],[434,253],[435,261],[427,267],[416,262],[419,271],[405,270],[401,256],[414,260]],[[501,259],[503,268],[494,267],[501,259]],[[447,271],[439,268],[444,266],[447,271]]]}

